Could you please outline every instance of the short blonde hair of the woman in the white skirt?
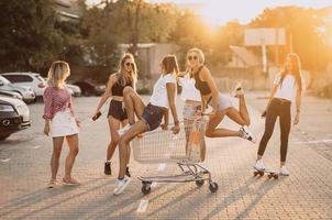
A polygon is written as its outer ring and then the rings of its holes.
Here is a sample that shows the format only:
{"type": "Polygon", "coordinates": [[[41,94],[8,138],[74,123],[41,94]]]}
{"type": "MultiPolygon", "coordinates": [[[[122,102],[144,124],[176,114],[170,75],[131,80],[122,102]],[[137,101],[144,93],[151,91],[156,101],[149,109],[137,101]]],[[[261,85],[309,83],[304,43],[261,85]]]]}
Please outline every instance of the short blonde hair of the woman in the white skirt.
{"type": "Polygon", "coordinates": [[[70,68],[68,63],[63,61],[54,62],[48,70],[47,84],[48,86],[60,88],[69,75],[70,68]]]}

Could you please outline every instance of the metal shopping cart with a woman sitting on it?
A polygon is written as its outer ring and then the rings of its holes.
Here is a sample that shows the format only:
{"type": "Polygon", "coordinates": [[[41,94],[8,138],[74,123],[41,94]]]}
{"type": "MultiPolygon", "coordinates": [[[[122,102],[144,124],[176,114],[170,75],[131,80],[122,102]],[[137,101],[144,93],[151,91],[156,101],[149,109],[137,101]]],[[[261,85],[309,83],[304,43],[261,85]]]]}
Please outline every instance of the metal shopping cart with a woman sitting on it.
{"type": "Polygon", "coordinates": [[[143,164],[176,163],[180,174],[168,176],[141,176],[142,193],[151,193],[152,183],[187,183],[195,182],[201,187],[209,182],[211,193],[218,190],[218,184],[212,182],[211,173],[199,163],[204,161],[204,130],[207,119],[197,118],[187,128],[180,124],[180,132],[174,134],[170,130],[158,129],[144,133],[133,140],[134,160],[143,164]]]}

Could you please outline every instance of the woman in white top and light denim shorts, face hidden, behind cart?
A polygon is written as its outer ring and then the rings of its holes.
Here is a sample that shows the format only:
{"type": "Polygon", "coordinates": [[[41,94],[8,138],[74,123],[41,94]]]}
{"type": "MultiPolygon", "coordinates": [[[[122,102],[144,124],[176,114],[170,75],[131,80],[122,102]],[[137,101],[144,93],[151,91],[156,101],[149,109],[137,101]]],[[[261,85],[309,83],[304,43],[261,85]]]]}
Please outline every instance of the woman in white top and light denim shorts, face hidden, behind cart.
{"type": "MultiPolygon", "coordinates": [[[[178,84],[181,86],[181,99],[185,101],[182,109],[184,124],[186,129],[187,142],[189,141],[189,132],[192,127],[195,117],[201,111],[201,97],[199,90],[195,87],[192,70],[188,68],[185,73],[178,74],[178,84]]],[[[206,142],[203,140],[203,145],[206,142]]],[[[202,147],[206,148],[204,146],[202,147]]],[[[201,160],[204,160],[206,152],[201,152],[201,160]]]]}

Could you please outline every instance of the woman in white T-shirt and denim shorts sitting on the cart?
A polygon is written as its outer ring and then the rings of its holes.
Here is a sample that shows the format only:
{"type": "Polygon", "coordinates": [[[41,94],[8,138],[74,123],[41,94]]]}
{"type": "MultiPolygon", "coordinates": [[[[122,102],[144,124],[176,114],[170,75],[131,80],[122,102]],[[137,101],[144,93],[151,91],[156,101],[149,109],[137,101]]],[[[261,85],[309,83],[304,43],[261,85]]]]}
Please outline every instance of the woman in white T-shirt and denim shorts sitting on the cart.
{"type": "Polygon", "coordinates": [[[176,112],[175,97],[176,97],[176,74],[178,73],[177,59],[174,55],[167,55],[161,63],[162,75],[154,85],[153,94],[150,103],[145,106],[131,87],[125,87],[123,91],[123,99],[128,111],[129,124],[120,132],[123,134],[120,139],[120,172],[117,180],[114,195],[120,195],[130,183],[130,177],[125,175],[125,163],[129,157],[129,143],[137,134],[146,131],[153,131],[162,123],[165,117],[165,123],[162,125],[166,129],[168,125],[168,109],[170,109],[174,119],[174,133],[179,132],[179,121],[176,112]],[[140,119],[134,122],[134,114],[140,119]]]}

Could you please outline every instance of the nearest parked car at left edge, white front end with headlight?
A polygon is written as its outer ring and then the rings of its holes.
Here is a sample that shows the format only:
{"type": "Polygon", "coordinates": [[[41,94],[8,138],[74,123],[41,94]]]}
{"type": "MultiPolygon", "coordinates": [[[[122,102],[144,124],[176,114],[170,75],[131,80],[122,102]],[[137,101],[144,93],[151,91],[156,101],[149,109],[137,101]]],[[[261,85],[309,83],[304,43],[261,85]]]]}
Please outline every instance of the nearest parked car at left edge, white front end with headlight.
{"type": "Polygon", "coordinates": [[[30,125],[30,111],[23,101],[0,97],[0,141],[30,125]]]}

